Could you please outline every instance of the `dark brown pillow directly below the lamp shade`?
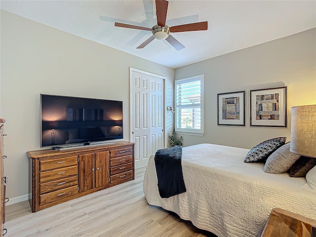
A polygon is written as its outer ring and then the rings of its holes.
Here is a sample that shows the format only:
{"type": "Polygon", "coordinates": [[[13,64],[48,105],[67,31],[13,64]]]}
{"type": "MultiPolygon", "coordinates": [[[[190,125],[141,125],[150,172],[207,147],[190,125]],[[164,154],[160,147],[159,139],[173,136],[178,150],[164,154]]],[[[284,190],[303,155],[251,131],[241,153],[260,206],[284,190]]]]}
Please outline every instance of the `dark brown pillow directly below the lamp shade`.
{"type": "Polygon", "coordinates": [[[316,165],[316,158],[301,156],[287,171],[290,177],[304,177],[316,165]]]}

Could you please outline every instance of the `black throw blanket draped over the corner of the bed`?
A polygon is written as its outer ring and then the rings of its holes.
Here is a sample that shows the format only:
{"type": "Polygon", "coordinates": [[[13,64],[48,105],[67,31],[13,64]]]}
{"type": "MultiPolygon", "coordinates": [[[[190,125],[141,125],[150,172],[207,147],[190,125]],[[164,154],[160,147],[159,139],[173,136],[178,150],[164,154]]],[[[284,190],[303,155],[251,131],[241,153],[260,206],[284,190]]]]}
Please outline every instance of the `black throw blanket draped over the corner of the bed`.
{"type": "Polygon", "coordinates": [[[160,149],[155,155],[160,197],[171,197],[186,192],[182,175],[182,147],[160,149]]]}

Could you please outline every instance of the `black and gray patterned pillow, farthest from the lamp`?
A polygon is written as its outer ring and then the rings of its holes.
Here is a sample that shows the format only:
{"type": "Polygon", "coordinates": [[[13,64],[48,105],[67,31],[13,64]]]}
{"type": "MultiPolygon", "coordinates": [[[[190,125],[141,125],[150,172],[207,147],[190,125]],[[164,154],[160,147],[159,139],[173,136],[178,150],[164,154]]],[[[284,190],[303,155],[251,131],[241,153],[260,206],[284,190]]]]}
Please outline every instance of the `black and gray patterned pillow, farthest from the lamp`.
{"type": "Polygon", "coordinates": [[[286,137],[276,137],[266,140],[252,148],[244,159],[244,162],[265,162],[266,159],[284,145],[286,137]]]}

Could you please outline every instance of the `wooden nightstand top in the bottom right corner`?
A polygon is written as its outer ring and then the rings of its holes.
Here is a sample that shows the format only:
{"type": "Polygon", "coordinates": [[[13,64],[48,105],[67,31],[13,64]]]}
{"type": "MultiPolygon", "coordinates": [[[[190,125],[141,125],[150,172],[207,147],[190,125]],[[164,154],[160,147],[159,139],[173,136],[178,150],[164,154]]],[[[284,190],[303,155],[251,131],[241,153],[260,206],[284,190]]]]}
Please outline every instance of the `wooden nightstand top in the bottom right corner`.
{"type": "Polygon", "coordinates": [[[261,237],[311,237],[316,220],[273,208],[261,237]]]}

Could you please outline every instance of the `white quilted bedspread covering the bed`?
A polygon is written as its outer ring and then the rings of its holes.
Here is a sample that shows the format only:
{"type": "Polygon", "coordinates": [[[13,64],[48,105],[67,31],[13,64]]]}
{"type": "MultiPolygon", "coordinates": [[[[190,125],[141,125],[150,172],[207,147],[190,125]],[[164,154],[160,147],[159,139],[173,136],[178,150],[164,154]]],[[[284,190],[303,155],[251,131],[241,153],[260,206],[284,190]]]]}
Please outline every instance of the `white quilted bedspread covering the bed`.
{"type": "Polygon", "coordinates": [[[248,149],[213,144],[183,148],[187,192],[158,193],[155,155],[149,159],[144,193],[149,204],[177,213],[218,237],[258,237],[274,207],[316,219],[316,193],[306,179],[264,172],[263,163],[243,162],[248,149]]]}

